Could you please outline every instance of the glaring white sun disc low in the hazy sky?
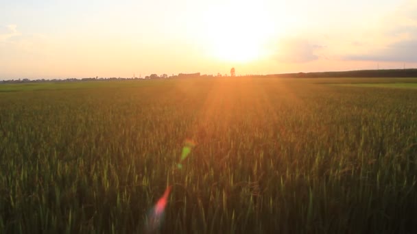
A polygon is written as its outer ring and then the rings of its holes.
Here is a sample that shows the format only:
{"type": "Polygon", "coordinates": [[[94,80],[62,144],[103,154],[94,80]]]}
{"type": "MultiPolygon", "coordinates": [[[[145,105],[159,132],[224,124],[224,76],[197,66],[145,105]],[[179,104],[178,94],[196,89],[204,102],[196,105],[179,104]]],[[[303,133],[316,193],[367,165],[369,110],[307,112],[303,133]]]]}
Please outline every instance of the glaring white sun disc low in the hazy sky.
{"type": "Polygon", "coordinates": [[[256,2],[230,2],[206,12],[206,52],[222,62],[253,62],[266,55],[272,26],[256,2]]]}

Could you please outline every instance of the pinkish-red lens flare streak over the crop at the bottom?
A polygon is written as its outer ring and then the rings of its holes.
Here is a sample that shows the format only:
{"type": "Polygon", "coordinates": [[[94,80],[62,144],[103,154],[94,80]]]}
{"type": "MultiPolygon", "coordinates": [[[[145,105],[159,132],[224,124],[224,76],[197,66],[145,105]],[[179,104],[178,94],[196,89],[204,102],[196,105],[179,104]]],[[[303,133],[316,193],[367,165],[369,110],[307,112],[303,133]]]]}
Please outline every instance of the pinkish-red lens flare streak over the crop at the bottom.
{"type": "Polygon", "coordinates": [[[163,196],[159,198],[156,205],[151,209],[149,219],[146,224],[146,233],[157,233],[163,222],[165,214],[165,206],[168,202],[168,196],[171,192],[171,186],[168,186],[163,196]]]}

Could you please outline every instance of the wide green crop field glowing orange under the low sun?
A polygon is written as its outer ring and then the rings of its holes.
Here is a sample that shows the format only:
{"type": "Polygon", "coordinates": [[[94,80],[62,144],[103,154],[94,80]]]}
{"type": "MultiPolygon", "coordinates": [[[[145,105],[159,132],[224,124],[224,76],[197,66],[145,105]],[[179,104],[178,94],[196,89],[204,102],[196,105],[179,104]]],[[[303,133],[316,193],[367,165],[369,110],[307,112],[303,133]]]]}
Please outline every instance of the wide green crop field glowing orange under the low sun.
{"type": "Polygon", "coordinates": [[[160,233],[416,233],[417,90],[380,83],[417,79],[0,85],[0,233],[143,233],[168,185],[160,233]]]}

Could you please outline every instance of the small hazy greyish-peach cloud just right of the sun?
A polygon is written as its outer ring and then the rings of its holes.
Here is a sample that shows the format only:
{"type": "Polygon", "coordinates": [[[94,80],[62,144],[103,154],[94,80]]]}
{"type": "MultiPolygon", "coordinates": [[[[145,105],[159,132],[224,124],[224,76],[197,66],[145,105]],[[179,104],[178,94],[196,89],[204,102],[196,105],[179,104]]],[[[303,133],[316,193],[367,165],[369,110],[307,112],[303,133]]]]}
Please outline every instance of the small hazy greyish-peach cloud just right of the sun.
{"type": "Polygon", "coordinates": [[[282,40],[274,54],[274,60],[284,63],[311,62],[319,59],[319,55],[316,54],[316,51],[320,48],[322,47],[311,44],[307,40],[282,40]]]}

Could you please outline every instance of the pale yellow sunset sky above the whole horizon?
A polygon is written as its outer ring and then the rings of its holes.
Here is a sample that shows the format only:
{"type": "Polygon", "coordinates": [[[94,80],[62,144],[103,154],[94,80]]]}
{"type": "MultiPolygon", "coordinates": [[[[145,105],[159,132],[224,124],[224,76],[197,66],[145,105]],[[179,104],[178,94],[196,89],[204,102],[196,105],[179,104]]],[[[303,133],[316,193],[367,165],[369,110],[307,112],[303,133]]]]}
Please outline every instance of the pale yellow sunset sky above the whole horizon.
{"type": "Polygon", "coordinates": [[[0,5],[0,79],[417,68],[417,0],[0,5]]]}

